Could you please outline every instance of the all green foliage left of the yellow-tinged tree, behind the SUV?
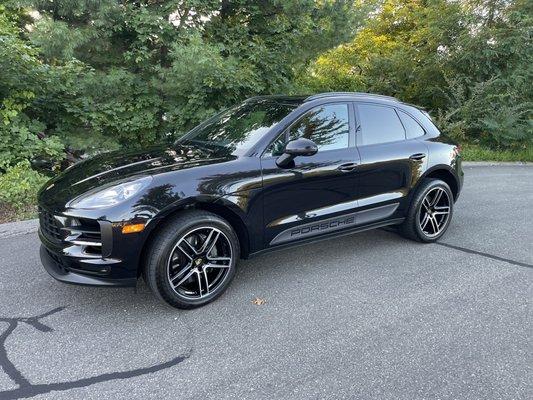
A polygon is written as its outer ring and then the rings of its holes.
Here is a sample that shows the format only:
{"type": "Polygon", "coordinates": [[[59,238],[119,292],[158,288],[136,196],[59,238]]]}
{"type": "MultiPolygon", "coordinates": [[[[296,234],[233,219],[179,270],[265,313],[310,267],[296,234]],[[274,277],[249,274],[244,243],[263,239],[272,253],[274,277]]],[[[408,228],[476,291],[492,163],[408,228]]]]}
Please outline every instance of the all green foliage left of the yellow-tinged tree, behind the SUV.
{"type": "MultiPolygon", "coordinates": [[[[3,1],[0,174],[171,139],[243,98],[293,91],[361,15],[349,0],[3,1]]],[[[20,183],[0,202],[31,199],[38,185],[20,183]]]]}

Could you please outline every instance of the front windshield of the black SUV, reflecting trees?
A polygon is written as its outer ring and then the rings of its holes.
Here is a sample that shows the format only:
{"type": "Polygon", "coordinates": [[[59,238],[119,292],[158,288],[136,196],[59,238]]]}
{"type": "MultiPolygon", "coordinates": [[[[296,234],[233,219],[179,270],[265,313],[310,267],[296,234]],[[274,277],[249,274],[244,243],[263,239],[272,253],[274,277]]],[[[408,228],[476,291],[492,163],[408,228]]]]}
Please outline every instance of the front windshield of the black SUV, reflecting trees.
{"type": "Polygon", "coordinates": [[[176,143],[242,155],[296,107],[270,99],[246,101],[201,123],[176,143]]]}

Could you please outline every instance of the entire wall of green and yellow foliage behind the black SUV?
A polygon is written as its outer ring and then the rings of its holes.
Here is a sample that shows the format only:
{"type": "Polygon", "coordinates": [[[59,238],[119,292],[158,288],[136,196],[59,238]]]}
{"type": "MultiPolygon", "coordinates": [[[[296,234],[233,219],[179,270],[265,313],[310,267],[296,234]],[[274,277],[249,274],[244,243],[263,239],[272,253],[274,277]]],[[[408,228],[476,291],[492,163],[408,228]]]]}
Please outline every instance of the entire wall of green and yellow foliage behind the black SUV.
{"type": "Polygon", "coordinates": [[[79,154],[170,140],[256,94],[391,94],[461,142],[530,149],[532,7],[1,0],[0,202],[31,202],[79,154]]]}

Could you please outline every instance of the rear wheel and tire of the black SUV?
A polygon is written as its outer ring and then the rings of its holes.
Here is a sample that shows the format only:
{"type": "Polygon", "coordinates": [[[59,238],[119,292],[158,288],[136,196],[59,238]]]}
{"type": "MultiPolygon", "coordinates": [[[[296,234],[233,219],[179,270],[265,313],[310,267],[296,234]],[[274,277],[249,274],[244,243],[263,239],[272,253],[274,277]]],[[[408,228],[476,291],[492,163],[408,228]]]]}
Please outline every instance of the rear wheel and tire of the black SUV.
{"type": "Polygon", "coordinates": [[[413,196],[405,221],[400,225],[400,234],[418,242],[437,241],[450,226],[453,201],[452,191],[446,182],[424,179],[413,196]],[[438,194],[440,197],[437,198],[438,194]],[[434,200],[437,200],[436,204],[433,204],[434,200]]]}

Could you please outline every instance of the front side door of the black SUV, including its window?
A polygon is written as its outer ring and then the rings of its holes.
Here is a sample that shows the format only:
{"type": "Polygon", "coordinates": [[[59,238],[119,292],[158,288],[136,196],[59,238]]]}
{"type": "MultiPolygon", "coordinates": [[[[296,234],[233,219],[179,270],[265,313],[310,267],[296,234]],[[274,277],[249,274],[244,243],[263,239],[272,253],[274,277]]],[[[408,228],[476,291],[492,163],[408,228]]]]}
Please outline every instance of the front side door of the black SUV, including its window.
{"type": "Polygon", "coordinates": [[[350,103],[329,103],[301,115],[271,143],[261,159],[265,247],[319,236],[355,225],[357,208],[355,121],[350,103]],[[276,165],[286,143],[305,137],[313,156],[276,165]]]}

